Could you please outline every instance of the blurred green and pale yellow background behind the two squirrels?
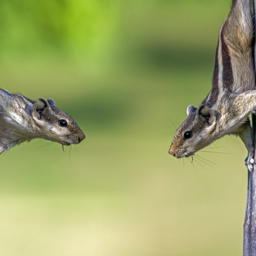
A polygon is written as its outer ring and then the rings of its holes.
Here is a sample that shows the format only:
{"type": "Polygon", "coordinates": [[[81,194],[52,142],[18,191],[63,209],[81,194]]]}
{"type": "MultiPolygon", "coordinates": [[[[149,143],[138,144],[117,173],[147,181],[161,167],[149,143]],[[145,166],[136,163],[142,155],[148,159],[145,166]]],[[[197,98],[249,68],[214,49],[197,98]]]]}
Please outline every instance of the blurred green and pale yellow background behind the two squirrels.
{"type": "Polygon", "coordinates": [[[213,163],[168,155],[210,91],[230,4],[0,2],[1,88],[53,98],[86,134],[65,152],[34,140],[0,156],[0,255],[242,255],[242,142],[198,153],[213,163]]]}

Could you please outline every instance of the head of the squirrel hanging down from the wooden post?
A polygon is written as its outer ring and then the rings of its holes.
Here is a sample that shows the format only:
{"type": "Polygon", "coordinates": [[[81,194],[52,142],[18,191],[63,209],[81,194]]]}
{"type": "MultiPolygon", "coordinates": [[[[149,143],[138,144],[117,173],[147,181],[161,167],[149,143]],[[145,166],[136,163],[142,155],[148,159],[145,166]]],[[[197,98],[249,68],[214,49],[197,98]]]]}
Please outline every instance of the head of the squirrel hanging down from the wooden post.
{"type": "Polygon", "coordinates": [[[176,158],[192,156],[216,139],[213,136],[216,115],[212,109],[203,104],[198,108],[189,105],[187,115],[188,118],[176,130],[170,146],[169,154],[176,158]]]}

